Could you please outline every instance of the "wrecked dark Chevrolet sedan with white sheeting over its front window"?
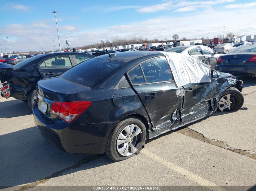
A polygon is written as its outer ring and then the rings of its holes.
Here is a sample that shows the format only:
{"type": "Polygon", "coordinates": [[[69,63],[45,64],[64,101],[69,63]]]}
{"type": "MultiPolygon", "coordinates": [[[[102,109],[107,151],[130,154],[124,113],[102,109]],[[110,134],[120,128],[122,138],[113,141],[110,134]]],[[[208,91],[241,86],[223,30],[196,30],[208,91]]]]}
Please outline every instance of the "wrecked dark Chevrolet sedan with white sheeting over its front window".
{"type": "MultiPolygon", "coordinates": [[[[182,56],[182,66],[188,60],[194,62],[188,56],[166,54],[178,60],[182,56]]],[[[139,153],[146,139],[202,119],[218,108],[237,111],[243,105],[242,81],[198,61],[209,81],[200,78],[200,83],[177,88],[172,75],[177,69],[171,71],[166,58],[157,51],[103,55],[59,77],[39,81],[35,125],[64,151],[105,152],[120,161],[139,153]]],[[[179,62],[176,66],[181,67],[179,62]]]]}

